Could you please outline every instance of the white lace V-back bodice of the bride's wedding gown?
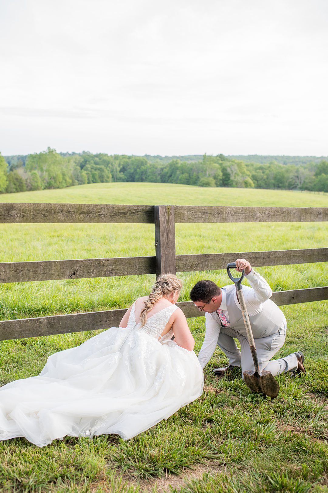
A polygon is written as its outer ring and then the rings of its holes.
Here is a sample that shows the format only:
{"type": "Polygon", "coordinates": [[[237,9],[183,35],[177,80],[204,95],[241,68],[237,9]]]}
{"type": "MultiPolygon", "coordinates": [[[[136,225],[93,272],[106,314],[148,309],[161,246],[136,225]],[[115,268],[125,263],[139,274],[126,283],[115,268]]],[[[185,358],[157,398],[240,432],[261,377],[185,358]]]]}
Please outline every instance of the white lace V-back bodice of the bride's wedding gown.
{"type": "Polygon", "coordinates": [[[176,305],[171,305],[163,308],[154,315],[151,315],[151,317],[147,319],[145,325],[142,327],[141,322],[136,322],[135,303],[136,302],[134,302],[131,308],[128,327],[131,329],[136,328],[137,330],[142,330],[156,339],[160,338],[160,341],[167,341],[171,339],[171,337],[173,336],[172,328],[163,337],[161,337],[161,333],[163,332],[165,325],[168,323],[171,315],[177,310],[178,307],[176,305]]]}

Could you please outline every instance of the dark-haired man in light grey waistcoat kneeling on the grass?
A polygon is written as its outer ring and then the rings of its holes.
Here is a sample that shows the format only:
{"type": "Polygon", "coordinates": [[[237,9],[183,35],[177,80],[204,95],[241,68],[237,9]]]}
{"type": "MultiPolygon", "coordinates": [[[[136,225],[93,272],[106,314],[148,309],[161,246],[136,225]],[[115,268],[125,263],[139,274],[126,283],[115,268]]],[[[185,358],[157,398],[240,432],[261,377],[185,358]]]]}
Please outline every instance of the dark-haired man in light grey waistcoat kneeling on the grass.
{"type": "MultiPolygon", "coordinates": [[[[273,376],[287,371],[305,373],[304,356],[293,352],[283,358],[271,360],[282,348],[286,337],[287,322],[283,312],[269,298],[272,290],[245,258],[236,260],[236,270],[242,272],[252,287],[243,286],[246,308],[250,317],[255,340],[260,373],[270,371],[273,376]]],[[[234,284],[219,288],[215,282],[199,281],[190,291],[190,299],[200,312],[205,312],[205,339],[198,359],[204,368],[213,355],[217,344],[229,358],[229,366],[213,370],[224,375],[233,367],[254,370],[252,353],[247,339],[244,320],[234,284]],[[234,339],[238,339],[241,351],[234,339]]]]}

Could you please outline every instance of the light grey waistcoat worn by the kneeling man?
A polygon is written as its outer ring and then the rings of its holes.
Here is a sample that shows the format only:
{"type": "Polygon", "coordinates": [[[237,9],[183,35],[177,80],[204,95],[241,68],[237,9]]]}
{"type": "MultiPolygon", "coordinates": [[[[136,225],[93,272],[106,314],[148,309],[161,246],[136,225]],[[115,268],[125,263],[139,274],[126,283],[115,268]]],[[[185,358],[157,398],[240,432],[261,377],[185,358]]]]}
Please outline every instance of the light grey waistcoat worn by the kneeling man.
{"type": "MultiPolygon", "coordinates": [[[[236,306],[236,302],[234,300],[235,294],[235,286],[234,284],[230,284],[228,286],[224,286],[222,289],[226,291],[226,307],[228,311],[229,323],[230,327],[234,329],[239,334],[247,337],[245,324],[242,316],[241,310],[236,306]]],[[[245,296],[245,291],[249,288],[248,286],[243,286],[243,292],[245,296]]],[[[221,324],[221,320],[219,318],[218,312],[214,312],[211,314],[216,321],[219,321],[221,327],[224,327],[221,324]]],[[[250,317],[251,327],[253,331],[254,339],[259,339],[260,337],[267,337],[269,335],[275,334],[278,332],[281,327],[284,319],[284,314],[277,307],[275,303],[271,300],[266,300],[262,303],[262,311],[256,315],[250,317]]]]}

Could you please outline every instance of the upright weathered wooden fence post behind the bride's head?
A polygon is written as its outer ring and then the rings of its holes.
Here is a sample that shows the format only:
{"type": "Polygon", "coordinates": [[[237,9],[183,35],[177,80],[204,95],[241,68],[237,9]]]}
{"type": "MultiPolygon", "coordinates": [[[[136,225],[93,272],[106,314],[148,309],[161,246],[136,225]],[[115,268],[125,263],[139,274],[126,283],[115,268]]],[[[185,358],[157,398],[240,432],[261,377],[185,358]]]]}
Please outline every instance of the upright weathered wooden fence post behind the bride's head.
{"type": "Polygon", "coordinates": [[[154,206],[156,277],[176,274],[174,206],[154,206]]]}

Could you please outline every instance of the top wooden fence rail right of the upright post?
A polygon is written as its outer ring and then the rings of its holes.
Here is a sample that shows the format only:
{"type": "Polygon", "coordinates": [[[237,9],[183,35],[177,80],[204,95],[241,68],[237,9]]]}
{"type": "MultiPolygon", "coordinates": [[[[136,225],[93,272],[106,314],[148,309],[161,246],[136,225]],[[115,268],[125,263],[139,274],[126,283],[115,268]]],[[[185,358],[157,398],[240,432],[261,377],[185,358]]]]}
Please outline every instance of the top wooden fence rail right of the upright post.
{"type": "Polygon", "coordinates": [[[175,220],[176,223],[328,221],[328,208],[175,206],[175,220]]]}

